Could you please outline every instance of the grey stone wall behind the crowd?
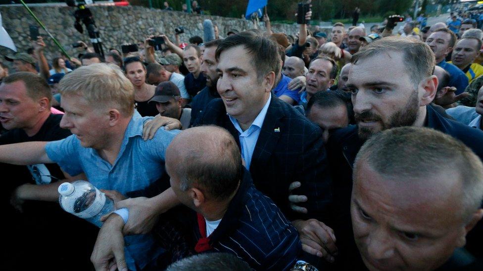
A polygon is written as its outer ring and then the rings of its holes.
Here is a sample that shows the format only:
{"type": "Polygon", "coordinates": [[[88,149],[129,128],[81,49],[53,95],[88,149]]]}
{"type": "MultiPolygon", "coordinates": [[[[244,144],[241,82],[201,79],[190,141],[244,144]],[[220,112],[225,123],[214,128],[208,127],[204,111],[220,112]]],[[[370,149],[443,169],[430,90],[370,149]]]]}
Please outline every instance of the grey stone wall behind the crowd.
{"type": "MultiPolygon", "coordinates": [[[[80,34],[74,28],[74,9],[70,7],[32,7],[34,14],[44,23],[49,32],[59,41],[71,56],[77,56],[80,52],[72,47],[77,40],[88,41],[87,31],[80,34]]],[[[225,18],[209,15],[193,15],[180,11],[162,11],[140,6],[94,6],[91,7],[104,49],[119,48],[124,43],[136,43],[148,35],[149,28],[155,28],[159,33],[165,33],[174,41],[174,29],[178,26],[185,28],[186,34],[181,35],[182,41],[188,42],[192,36],[203,37],[203,20],[211,19],[219,26],[220,35],[231,29],[239,31],[253,28],[251,21],[225,18]]],[[[1,6],[0,12],[3,27],[14,40],[18,50],[25,52],[31,47],[29,42],[29,25],[37,25],[34,18],[21,6],[1,6]]],[[[261,23],[263,25],[263,23],[261,23]]],[[[263,27],[262,27],[263,28],[263,27]]],[[[283,32],[295,35],[298,32],[297,25],[276,24],[274,32],[283,32]]],[[[55,46],[52,39],[47,38],[47,33],[40,29],[47,43],[46,56],[48,60],[59,55],[60,50],[55,46]]]]}

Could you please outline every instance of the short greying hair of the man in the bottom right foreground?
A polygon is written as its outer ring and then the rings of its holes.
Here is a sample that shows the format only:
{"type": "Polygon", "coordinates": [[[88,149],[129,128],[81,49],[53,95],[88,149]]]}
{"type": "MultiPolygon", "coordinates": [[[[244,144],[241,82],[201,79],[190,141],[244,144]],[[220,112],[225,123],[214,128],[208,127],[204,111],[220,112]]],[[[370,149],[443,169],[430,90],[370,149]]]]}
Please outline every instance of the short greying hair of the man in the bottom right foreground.
{"type": "Polygon", "coordinates": [[[357,154],[354,177],[362,162],[380,175],[400,182],[426,180],[432,173],[448,170],[458,172],[462,218],[468,222],[482,204],[482,161],[461,141],[434,129],[406,126],[380,132],[357,154]]]}

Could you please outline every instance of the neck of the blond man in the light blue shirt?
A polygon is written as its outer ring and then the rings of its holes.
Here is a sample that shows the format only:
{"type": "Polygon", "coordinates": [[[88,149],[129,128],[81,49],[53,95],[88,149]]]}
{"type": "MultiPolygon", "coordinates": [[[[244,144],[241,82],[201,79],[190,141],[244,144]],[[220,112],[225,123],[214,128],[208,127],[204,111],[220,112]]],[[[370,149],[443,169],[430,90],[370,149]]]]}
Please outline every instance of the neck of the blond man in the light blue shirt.
{"type": "Polygon", "coordinates": [[[121,123],[113,128],[113,131],[107,138],[106,144],[102,148],[96,149],[99,156],[109,162],[111,165],[114,164],[119,152],[121,151],[122,141],[124,140],[124,136],[131,119],[132,116],[120,120],[121,123]]]}

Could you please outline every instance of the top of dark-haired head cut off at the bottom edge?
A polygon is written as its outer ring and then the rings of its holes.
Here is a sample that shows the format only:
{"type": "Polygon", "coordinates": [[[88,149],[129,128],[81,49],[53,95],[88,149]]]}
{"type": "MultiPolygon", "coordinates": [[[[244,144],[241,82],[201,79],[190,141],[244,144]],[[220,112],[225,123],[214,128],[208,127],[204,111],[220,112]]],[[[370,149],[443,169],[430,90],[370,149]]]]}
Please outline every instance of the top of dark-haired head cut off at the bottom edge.
{"type": "Polygon", "coordinates": [[[166,271],[250,271],[247,263],[229,253],[205,253],[184,258],[171,264],[166,271]]]}

